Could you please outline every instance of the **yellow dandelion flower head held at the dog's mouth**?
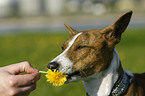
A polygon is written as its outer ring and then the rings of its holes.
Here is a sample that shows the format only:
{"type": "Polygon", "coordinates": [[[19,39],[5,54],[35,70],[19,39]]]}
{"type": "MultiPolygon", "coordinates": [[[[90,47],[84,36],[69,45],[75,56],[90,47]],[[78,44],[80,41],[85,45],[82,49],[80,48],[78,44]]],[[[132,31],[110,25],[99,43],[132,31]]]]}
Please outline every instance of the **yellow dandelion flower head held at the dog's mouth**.
{"type": "Polygon", "coordinates": [[[67,81],[68,75],[63,75],[61,72],[48,70],[47,74],[45,75],[47,78],[47,81],[52,83],[53,86],[59,87],[62,86],[67,81]]]}

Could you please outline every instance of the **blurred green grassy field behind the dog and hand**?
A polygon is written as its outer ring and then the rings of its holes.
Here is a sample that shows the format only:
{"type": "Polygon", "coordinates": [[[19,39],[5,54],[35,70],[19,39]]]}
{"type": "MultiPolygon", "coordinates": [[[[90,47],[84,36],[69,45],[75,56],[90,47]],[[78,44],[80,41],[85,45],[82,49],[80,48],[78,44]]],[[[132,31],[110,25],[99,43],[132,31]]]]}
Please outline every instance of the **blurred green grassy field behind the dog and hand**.
{"type": "MultiPolygon", "coordinates": [[[[29,61],[38,70],[47,70],[46,65],[61,53],[61,43],[66,33],[21,33],[0,36],[0,66],[29,61]]],[[[145,29],[127,30],[116,46],[124,69],[145,72],[145,29]]],[[[30,96],[85,96],[82,82],[53,87],[46,82],[44,74],[37,89],[30,96]]]]}

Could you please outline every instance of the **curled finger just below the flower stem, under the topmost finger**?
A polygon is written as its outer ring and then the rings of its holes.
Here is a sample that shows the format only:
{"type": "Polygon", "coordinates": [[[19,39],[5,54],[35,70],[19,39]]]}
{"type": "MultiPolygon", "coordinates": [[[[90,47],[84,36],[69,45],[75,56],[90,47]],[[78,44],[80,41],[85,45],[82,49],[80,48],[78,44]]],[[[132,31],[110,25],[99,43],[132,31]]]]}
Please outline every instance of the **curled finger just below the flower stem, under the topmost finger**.
{"type": "Polygon", "coordinates": [[[8,78],[9,86],[24,87],[37,82],[40,79],[40,73],[24,74],[24,75],[11,75],[8,78]]]}

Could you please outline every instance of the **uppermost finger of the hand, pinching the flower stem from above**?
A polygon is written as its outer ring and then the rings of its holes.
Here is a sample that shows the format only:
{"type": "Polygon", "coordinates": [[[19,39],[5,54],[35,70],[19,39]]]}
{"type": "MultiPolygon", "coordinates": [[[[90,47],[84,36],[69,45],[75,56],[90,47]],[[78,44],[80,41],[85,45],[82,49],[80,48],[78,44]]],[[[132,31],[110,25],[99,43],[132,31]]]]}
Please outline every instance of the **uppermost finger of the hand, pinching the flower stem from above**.
{"type": "Polygon", "coordinates": [[[33,68],[31,64],[27,61],[6,66],[5,69],[12,74],[19,74],[22,72],[26,73],[38,72],[38,70],[33,68]]]}

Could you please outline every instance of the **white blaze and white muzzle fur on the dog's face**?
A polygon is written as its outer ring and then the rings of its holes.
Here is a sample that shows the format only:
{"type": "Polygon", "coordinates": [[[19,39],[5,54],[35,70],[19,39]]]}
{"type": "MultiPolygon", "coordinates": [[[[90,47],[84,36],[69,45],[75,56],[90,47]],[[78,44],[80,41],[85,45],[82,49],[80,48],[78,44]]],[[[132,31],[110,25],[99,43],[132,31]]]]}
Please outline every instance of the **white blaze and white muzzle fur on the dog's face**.
{"type": "Polygon", "coordinates": [[[73,62],[70,61],[70,59],[67,57],[67,51],[70,49],[70,47],[73,45],[74,41],[78,38],[78,36],[82,34],[81,32],[76,34],[72,40],[69,42],[68,47],[55,59],[53,59],[51,62],[58,62],[60,64],[59,71],[62,73],[71,73],[72,72],[72,66],[73,62]]]}

